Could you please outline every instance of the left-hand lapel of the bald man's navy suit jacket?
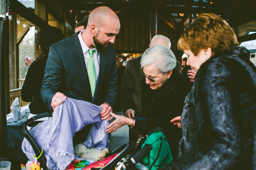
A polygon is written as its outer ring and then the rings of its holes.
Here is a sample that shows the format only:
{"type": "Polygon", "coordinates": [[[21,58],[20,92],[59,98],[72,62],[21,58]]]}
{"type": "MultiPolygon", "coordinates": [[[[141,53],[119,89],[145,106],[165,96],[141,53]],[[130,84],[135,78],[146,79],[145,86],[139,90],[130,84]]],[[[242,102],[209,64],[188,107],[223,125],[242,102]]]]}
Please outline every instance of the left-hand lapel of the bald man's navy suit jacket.
{"type": "Polygon", "coordinates": [[[91,86],[88,78],[88,73],[85,65],[85,60],[84,60],[84,54],[82,52],[82,47],[78,38],[78,34],[73,36],[73,39],[71,41],[71,50],[73,52],[74,58],[76,65],[78,66],[79,72],[81,74],[82,80],[84,81],[84,84],[89,92],[91,94],[91,86]]]}

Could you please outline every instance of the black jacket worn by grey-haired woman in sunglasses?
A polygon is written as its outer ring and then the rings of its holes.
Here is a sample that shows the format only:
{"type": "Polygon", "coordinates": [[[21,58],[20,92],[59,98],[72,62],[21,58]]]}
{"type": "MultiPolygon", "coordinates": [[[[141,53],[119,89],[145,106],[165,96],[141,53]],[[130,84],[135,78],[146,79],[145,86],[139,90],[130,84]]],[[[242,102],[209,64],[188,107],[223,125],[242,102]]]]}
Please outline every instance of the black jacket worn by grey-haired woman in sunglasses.
{"type": "Polygon", "coordinates": [[[171,149],[172,143],[176,143],[178,151],[178,141],[182,131],[177,125],[170,123],[170,120],[181,115],[185,97],[190,92],[190,84],[176,70],[173,70],[170,79],[159,89],[150,89],[154,92],[150,92],[151,96],[149,95],[150,87],[145,83],[145,78],[142,83],[142,98],[147,96],[147,99],[142,106],[141,119],[135,118],[135,129],[139,130],[139,134],[145,135],[156,127],[163,128],[171,149]]]}

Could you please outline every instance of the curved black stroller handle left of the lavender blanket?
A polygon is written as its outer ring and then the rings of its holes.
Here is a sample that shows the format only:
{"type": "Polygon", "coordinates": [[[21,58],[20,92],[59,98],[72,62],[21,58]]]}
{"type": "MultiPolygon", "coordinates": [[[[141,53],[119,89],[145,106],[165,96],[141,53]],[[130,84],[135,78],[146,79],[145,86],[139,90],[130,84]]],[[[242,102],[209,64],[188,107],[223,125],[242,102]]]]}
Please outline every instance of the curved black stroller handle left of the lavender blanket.
{"type": "MultiPolygon", "coordinates": [[[[44,118],[44,117],[49,117],[49,116],[50,116],[49,113],[42,113],[42,114],[35,115],[32,118],[25,121],[24,123],[22,123],[20,125],[20,128],[19,128],[19,131],[20,131],[21,135],[23,135],[28,140],[28,142],[30,142],[30,144],[31,144],[31,146],[32,146],[32,148],[33,148],[37,157],[41,154],[41,148],[38,146],[38,144],[34,140],[33,136],[27,130],[27,124],[31,123],[34,120],[41,119],[41,118],[44,118]]],[[[44,154],[42,154],[42,156],[40,158],[38,158],[38,162],[40,162],[40,166],[43,169],[47,169],[46,157],[44,156],[44,154]]]]}

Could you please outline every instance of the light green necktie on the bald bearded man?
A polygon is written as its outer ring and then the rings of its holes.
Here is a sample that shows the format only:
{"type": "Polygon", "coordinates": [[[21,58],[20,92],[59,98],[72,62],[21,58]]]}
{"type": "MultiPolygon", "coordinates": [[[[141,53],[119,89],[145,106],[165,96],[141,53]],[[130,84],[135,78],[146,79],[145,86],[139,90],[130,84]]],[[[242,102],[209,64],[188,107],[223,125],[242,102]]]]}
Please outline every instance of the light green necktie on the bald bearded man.
{"type": "Polygon", "coordinates": [[[92,98],[94,96],[95,92],[95,87],[96,87],[96,73],[95,73],[95,66],[93,62],[93,53],[94,50],[88,50],[89,52],[89,60],[88,60],[88,77],[90,81],[90,86],[91,86],[91,92],[92,92],[92,98]]]}

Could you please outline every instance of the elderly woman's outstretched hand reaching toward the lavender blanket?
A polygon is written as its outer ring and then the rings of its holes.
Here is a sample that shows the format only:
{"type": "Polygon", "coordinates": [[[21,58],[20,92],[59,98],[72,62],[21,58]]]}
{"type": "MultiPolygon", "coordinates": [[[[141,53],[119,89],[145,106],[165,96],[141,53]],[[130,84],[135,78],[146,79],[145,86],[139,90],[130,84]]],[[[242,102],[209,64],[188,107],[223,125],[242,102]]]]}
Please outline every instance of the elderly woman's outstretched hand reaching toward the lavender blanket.
{"type": "Polygon", "coordinates": [[[125,116],[116,115],[111,113],[111,116],[116,118],[110,125],[106,127],[105,133],[111,133],[117,131],[123,125],[132,125],[133,119],[127,118],[125,116]]]}

